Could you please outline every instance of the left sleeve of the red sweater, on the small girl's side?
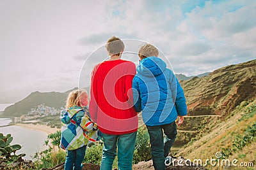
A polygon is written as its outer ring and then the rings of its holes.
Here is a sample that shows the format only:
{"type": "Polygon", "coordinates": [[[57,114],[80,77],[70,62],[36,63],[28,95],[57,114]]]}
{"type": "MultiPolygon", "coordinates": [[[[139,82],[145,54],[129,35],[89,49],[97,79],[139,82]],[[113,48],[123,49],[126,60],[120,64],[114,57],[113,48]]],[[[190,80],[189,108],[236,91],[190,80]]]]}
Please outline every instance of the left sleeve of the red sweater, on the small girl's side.
{"type": "Polygon", "coordinates": [[[97,103],[98,103],[98,96],[97,96],[97,78],[95,77],[95,73],[97,71],[97,66],[93,68],[92,76],[91,76],[91,89],[90,89],[90,117],[92,118],[93,122],[97,122],[97,103]]]}

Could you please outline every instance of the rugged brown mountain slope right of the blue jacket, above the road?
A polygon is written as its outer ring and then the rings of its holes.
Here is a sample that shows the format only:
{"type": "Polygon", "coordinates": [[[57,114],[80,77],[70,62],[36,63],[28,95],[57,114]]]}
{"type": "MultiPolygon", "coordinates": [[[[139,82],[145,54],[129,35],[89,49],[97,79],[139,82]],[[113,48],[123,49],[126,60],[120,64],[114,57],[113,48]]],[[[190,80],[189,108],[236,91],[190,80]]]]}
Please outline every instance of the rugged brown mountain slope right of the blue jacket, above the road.
{"type": "Polygon", "coordinates": [[[208,76],[180,81],[189,115],[228,115],[256,97],[256,60],[221,67],[208,76]]]}

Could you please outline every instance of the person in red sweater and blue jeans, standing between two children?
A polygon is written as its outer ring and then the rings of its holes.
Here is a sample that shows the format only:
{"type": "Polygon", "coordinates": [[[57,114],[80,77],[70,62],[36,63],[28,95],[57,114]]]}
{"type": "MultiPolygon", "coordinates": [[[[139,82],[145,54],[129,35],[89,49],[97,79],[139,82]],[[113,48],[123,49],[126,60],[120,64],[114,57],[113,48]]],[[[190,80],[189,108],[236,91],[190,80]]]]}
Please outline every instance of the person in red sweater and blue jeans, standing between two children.
{"type": "Polygon", "coordinates": [[[111,170],[118,148],[118,169],[132,169],[132,157],[138,129],[137,113],[132,107],[132,79],[135,64],[122,60],[124,43],[113,36],[106,44],[109,59],[92,71],[90,115],[97,122],[104,148],[101,170],[111,170]]]}

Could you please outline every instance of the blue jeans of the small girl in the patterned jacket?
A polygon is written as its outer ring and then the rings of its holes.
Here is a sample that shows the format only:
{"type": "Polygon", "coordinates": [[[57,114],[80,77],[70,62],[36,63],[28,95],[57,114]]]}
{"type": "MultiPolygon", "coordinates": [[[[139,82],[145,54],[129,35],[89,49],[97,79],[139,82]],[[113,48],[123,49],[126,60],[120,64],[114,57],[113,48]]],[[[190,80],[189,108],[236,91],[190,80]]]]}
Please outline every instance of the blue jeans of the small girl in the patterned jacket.
{"type": "Polygon", "coordinates": [[[84,160],[86,151],[86,145],[81,148],[77,148],[76,150],[68,150],[64,170],[81,170],[83,165],[82,162],[84,160]]]}

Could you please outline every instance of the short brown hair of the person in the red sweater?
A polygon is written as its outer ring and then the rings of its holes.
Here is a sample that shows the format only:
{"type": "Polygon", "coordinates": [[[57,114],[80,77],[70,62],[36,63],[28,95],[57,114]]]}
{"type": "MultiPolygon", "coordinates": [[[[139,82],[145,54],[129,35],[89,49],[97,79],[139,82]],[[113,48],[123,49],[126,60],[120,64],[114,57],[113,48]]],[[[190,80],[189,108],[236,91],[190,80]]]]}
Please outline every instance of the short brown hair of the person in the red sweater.
{"type": "Polygon", "coordinates": [[[115,36],[108,39],[106,44],[106,49],[109,55],[120,55],[124,51],[124,43],[120,38],[115,36]]]}

